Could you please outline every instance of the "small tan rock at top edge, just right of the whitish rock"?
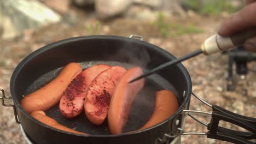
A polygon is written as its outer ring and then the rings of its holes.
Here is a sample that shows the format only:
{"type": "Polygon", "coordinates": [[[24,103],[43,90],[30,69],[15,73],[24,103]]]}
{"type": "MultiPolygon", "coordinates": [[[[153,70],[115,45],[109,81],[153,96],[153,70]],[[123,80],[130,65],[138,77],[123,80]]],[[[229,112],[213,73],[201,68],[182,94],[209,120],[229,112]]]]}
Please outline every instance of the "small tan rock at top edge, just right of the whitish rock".
{"type": "Polygon", "coordinates": [[[69,10],[69,0],[42,0],[42,2],[62,14],[67,13],[69,10]]]}

